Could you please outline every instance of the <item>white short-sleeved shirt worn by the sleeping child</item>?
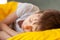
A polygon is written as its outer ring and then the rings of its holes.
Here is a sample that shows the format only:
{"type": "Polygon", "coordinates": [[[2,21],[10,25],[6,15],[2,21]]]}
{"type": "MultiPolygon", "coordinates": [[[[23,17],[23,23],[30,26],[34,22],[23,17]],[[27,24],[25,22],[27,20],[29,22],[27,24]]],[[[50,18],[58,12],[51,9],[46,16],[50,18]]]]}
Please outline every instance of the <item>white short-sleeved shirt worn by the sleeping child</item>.
{"type": "Polygon", "coordinates": [[[18,25],[18,22],[20,20],[25,20],[29,15],[39,11],[40,9],[31,3],[18,3],[16,14],[19,18],[16,20],[16,27],[15,27],[16,31],[18,32],[23,31],[18,25]]]}

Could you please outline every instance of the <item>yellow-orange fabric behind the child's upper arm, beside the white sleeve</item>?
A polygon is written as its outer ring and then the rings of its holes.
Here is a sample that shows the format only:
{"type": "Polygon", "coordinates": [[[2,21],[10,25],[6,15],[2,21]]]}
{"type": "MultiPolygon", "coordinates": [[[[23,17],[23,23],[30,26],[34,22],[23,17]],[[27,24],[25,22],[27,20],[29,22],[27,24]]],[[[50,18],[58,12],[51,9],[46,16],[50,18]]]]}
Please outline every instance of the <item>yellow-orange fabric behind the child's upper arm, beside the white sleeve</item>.
{"type": "Polygon", "coordinates": [[[16,11],[17,2],[8,2],[7,4],[0,4],[0,21],[7,17],[10,13],[16,11]]]}

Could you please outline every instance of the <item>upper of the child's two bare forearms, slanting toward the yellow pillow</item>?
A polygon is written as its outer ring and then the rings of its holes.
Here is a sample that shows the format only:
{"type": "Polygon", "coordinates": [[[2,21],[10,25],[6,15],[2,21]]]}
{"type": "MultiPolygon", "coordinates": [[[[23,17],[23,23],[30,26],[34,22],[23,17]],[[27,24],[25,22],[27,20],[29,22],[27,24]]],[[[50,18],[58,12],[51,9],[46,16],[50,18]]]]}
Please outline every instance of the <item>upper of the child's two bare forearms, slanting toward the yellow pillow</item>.
{"type": "Polygon", "coordinates": [[[1,26],[2,31],[5,31],[10,36],[14,36],[14,35],[17,34],[16,31],[14,31],[11,28],[9,28],[6,24],[0,24],[0,26],[1,26]]]}

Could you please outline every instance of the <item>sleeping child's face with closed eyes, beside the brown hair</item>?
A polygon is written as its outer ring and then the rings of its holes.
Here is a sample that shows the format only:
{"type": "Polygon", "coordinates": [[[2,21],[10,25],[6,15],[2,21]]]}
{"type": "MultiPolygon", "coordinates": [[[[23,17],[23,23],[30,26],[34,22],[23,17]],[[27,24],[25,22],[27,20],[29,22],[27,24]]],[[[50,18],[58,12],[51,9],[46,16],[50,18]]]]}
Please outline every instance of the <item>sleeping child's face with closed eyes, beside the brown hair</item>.
{"type": "Polygon", "coordinates": [[[22,29],[25,32],[29,31],[38,31],[40,30],[40,21],[41,14],[32,14],[22,23],[22,29]]]}

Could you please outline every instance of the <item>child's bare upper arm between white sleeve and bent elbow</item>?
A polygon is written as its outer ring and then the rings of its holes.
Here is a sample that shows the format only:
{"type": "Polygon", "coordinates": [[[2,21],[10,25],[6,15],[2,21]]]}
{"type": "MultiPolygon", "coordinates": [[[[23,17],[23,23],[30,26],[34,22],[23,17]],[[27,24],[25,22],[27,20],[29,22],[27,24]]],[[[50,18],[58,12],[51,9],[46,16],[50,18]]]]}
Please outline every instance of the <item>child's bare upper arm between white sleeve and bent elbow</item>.
{"type": "Polygon", "coordinates": [[[16,19],[18,18],[18,16],[16,15],[16,12],[9,14],[3,21],[2,23],[5,24],[10,24],[13,23],[16,19]]]}

